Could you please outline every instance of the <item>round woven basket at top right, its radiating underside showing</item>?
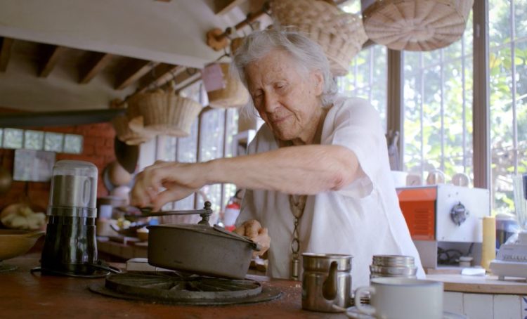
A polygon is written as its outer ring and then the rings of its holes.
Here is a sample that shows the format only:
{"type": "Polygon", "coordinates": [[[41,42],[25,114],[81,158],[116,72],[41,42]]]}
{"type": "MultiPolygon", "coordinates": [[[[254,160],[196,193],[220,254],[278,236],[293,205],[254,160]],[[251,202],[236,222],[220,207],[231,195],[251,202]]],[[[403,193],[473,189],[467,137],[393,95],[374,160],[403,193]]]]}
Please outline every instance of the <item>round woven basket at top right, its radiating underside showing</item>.
{"type": "Polygon", "coordinates": [[[474,0],[361,0],[367,36],[393,50],[431,51],[460,39],[474,0]]]}

